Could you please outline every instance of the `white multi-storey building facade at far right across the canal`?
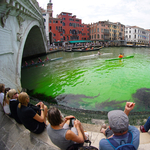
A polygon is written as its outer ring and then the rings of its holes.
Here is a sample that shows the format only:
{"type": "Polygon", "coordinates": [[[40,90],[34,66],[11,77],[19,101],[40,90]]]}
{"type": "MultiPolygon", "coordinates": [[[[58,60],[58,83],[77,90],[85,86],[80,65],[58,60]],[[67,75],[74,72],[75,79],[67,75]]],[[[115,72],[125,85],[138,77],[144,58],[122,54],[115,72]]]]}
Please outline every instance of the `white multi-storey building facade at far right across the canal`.
{"type": "Polygon", "coordinates": [[[149,45],[149,31],[137,26],[126,26],[125,39],[134,45],[149,45]]]}

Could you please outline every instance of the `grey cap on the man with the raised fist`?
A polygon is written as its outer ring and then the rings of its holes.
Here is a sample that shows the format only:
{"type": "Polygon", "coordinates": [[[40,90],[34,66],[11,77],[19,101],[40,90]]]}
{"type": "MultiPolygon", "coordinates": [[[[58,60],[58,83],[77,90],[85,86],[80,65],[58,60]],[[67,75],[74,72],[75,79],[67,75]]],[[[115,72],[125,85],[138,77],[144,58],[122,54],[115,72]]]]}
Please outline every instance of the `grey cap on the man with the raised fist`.
{"type": "Polygon", "coordinates": [[[108,113],[111,129],[115,133],[123,133],[128,130],[129,118],[122,110],[112,110],[108,113]]]}

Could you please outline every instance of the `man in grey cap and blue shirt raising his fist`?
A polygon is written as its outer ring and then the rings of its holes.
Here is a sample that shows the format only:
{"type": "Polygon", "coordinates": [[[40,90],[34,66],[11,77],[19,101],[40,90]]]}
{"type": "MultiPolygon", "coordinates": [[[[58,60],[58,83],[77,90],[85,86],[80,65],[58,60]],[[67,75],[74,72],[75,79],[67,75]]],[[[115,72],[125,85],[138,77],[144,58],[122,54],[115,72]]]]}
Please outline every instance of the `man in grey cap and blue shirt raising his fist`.
{"type": "Polygon", "coordinates": [[[140,133],[136,127],[129,125],[128,119],[128,115],[134,106],[135,103],[127,102],[124,111],[113,110],[108,113],[109,128],[103,128],[101,132],[104,133],[104,135],[108,134],[109,137],[107,136],[107,139],[100,140],[99,150],[114,150],[114,147],[110,143],[112,140],[115,141],[118,145],[126,144],[130,134],[132,134],[133,138],[132,146],[134,149],[138,149],[140,133]]]}

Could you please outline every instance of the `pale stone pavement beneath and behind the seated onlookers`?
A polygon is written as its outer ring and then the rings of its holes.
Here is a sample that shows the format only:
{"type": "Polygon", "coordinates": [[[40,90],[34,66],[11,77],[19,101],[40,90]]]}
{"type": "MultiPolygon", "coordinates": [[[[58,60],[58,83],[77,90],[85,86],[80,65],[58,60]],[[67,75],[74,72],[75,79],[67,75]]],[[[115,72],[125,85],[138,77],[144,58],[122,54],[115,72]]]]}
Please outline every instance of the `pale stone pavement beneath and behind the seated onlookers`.
{"type": "MultiPolygon", "coordinates": [[[[4,114],[0,107],[0,150],[60,150],[49,139],[46,130],[37,135],[31,133],[23,125],[4,114]]],[[[89,133],[92,146],[99,147],[99,141],[105,136],[99,132],[99,120],[92,124],[84,124],[84,129],[89,133]]],[[[102,120],[100,120],[102,123],[102,120]]],[[[137,126],[139,129],[139,126],[137,126]]],[[[140,146],[138,150],[150,149],[150,132],[140,133],[140,146]]]]}

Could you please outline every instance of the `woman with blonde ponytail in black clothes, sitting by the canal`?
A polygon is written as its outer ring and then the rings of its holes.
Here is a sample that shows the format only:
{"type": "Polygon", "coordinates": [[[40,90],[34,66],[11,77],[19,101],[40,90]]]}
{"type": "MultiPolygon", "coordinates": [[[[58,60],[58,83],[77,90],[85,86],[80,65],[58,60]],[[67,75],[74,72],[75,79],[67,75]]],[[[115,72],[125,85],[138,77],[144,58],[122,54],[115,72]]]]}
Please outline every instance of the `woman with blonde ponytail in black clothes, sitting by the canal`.
{"type": "Polygon", "coordinates": [[[40,134],[46,127],[47,106],[43,102],[37,105],[40,107],[40,115],[29,105],[29,95],[21,92],[18,96],[19,105],[17,107],[18,117],[22,124],[31,132],[40,134]]]}

